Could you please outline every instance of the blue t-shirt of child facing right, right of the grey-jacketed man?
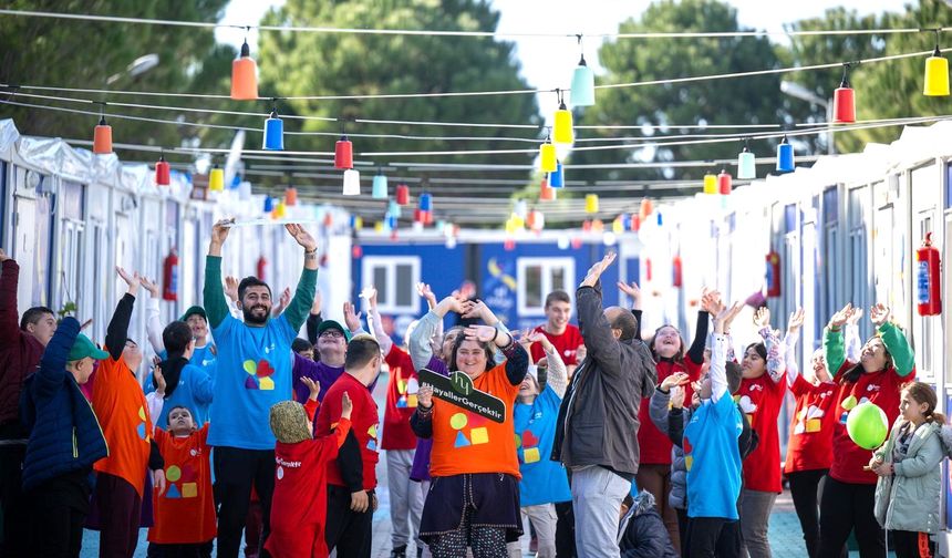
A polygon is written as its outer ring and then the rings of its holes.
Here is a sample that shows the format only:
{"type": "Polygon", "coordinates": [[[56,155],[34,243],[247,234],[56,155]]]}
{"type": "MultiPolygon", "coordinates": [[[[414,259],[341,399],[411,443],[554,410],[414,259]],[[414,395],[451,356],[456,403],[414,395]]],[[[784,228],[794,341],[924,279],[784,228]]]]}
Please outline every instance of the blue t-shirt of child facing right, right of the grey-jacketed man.
{"type": "Polygon", "coordinates": [[[687,517],[737,519],[741,495],[741,451],[737,438],[743,417],[729,393],[717,403],[707,400],[684,427],[687,467],[687,517]]]}

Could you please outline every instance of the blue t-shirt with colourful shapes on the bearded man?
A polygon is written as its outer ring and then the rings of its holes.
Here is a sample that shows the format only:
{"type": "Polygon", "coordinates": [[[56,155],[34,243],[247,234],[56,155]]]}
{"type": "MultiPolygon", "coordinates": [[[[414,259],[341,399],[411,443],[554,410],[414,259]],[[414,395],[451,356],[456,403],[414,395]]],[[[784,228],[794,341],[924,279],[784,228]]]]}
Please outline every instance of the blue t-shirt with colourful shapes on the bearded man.
{"type": "Polygon", "coordinates": [[[252,328],[231,316],[214,329],[218,344],[208,444],[273,450],[268,413],[291,399],[291,340],[284,314],[252,328]]]}

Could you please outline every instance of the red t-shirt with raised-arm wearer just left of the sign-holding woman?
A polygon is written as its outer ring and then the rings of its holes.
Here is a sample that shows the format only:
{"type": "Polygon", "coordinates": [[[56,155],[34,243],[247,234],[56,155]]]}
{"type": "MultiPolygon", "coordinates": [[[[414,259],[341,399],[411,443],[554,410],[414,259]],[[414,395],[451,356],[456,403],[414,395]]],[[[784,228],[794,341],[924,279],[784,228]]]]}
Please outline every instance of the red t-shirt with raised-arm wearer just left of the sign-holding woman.
{"type": "Polygon", "coordinates": [[[416,434],[410,427],[410,417],[416,411],[416,392],[420,383],[410,354],[395,344],[386,353],[390,381],[386,385],[386,406],[383,410],[381,450],[415,450],[416,434]]]}

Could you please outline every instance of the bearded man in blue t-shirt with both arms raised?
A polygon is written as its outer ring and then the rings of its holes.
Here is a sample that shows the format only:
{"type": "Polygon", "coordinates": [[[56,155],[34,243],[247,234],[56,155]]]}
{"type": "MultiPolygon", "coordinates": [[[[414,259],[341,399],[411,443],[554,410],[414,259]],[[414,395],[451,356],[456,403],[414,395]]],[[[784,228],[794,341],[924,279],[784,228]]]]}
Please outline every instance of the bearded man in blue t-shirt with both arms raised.
{"type": "MultiPolygon", "coordinates": [[[[221,246],[229,221],[211,229],[205,267],[205,310],[218,344],[215,405],[208,444],[215,446],[218,515],[218,556],[237,558],[241,529],[253,484],[261,500],[263,539],[270,531],[275,490],[275,435],[269,426],[271,405],[291,393],[291,341],[308,317],[318,280],[317,241],[300,225],[286,225],[304,248],[304,269],[294,298],[284,312],[271,318],[271,289],[253,277],[238,286],[244,322],[228,312],[221,286],[221,246]]],[[[263,544],[263,540],[261,541],[263,544]]]]}

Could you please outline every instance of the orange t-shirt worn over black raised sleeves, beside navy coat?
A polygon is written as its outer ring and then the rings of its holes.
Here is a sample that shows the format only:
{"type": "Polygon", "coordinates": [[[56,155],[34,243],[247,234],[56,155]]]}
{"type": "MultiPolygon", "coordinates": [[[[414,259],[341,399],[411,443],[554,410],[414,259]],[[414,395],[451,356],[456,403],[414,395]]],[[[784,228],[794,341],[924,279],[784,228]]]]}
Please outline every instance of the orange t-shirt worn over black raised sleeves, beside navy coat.
{"type": "Polygon", "coordinates": [[[124,479],[142,497],[152,418],[142,386],[122,356],[100,361],[92,405],[110,448],[108,456],[93,464],[93,468],[124,479]]]}

